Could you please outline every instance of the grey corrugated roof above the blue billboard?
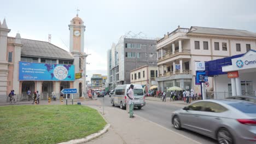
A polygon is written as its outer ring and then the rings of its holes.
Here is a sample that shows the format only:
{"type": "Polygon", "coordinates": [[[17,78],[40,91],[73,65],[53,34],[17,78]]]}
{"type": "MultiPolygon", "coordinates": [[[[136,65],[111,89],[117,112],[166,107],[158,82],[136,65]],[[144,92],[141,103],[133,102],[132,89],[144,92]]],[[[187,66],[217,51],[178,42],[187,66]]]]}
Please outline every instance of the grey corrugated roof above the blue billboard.
{"type": "Polygon", "coordinates": [[[54,59],[74,59],[68,51],[46,41],[21,39],[21,56],[54,59]]]}

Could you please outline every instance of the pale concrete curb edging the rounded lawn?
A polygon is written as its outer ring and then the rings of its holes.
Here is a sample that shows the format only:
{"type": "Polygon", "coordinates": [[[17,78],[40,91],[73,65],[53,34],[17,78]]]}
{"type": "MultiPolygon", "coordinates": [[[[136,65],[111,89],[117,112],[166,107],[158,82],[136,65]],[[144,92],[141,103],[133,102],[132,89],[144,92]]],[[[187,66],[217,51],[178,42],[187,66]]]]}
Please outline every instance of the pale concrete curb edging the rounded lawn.
{"type": "Polygon", "coordinates": [[[70,140],[67,142],[61,142],[59,144],[78,144],[78,143],[88,142],[88,141],[91,141],[91,140],[96,139],[97,137],[103,135],[104,133],[106,133],[108,131],[109,128],[110,128],[110,124],[108,123],[105,125],[105,127],[102,130],[98,131],[98,133],[91,134],[89,136],[84,137],[83,139],[70,140]]]}

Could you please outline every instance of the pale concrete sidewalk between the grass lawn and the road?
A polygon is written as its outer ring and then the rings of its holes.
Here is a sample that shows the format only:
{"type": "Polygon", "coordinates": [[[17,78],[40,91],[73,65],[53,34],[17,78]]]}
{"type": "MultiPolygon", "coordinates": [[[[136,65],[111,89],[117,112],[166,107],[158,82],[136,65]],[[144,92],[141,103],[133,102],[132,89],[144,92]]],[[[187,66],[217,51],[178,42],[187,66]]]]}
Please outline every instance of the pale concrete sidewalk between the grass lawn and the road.
{"type": "MultiPolygon", "coordinates": [[[[102,113],[101,106],[90,107],[102,113]]],[[[118,107],[104,107],[103,117],[111,124],[111,127],[106,134],[86,144],[200,143],[147,119],[135,116],[135,118],[129,118],[129,114],[118,107]]]]}

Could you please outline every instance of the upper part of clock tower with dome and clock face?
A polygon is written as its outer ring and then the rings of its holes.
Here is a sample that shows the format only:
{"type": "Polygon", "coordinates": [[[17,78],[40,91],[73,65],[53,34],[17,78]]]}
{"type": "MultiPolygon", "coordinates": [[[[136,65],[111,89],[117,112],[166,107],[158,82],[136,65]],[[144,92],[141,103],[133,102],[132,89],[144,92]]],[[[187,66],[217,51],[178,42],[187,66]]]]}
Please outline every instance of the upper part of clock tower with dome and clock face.
{"type": "Polygon", "coordinates": [[[69,52],[84,52],[84,31],[85,26],[83,20],[75,16],[71,21],[69,27],[69,52]]]}

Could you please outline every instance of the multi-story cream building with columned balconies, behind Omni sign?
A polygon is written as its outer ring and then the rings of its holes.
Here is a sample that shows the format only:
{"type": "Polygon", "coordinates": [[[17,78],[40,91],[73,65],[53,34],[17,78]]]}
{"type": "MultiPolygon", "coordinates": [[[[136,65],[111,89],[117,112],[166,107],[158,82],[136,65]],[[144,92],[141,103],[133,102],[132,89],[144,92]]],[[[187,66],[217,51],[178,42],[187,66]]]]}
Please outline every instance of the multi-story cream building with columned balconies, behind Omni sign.
{"type": "MultiPolygon", "coordinates": [[[[211,61],[256,49],[256,34],[244,30],[178,27],[164,35],[156,45],[158,53],[158,88],[178,86],[201,91],[195,85],[195,62],[211,61]]],[[[210,88],[213,82],[210,79],[210,88]]]]}

